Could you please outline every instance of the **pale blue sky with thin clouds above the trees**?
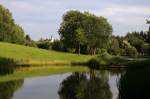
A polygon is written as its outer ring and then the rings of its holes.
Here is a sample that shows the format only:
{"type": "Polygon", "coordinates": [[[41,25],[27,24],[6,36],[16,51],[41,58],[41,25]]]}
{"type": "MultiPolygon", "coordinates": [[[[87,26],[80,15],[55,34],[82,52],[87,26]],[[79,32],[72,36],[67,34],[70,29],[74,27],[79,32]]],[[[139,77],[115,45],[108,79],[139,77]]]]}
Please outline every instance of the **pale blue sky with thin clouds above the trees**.
{"type": "Polygon", "coordinates": [[[113,34],[147,30],[150,0],[0,0],[8,8],[15,22],[32,39],[59,38],[58,29],[66,11],[88,11],[108,19],[113,34]]]}

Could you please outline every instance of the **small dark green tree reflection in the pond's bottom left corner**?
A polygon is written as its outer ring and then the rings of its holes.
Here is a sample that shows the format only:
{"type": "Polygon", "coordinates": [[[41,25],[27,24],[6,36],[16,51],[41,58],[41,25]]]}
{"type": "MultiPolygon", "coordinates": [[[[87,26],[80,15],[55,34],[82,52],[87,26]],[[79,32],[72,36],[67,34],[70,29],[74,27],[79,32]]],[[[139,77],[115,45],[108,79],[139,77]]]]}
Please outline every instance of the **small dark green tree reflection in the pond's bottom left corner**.
{"type": "Polygon", "coordinates": [[[0,99],[12,99],[14,92],[23,85],[23,80],[0,83],[0,99]]]}

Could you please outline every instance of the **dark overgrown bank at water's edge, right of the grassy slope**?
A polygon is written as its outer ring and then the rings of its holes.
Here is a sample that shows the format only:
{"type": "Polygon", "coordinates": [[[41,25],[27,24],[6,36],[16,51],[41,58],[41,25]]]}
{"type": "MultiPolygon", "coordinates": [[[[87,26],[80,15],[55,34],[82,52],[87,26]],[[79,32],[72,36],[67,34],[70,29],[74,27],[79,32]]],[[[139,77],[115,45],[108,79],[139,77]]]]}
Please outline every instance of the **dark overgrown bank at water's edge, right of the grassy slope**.
{"type": "Polygon", "coordinates": [[[92,58],[88,65],[90,68],[139,68],[150,66],[150,58],[131,58],[131,57],[121,57],[121,56],[111,56],[108,53],[100,55],[98,57],[92,58]]]}

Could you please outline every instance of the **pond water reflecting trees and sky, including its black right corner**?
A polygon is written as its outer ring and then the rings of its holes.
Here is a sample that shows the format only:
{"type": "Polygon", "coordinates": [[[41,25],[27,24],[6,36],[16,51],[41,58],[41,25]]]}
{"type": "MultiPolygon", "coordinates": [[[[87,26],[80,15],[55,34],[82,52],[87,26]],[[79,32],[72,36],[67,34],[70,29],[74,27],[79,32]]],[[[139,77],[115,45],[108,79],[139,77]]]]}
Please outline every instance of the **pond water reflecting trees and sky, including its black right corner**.
{"type": "Polygon", "coordinates": [[[1,82],[0,99],[146,99],[148,75],[148,69],[90,70],[1,82]]]}

